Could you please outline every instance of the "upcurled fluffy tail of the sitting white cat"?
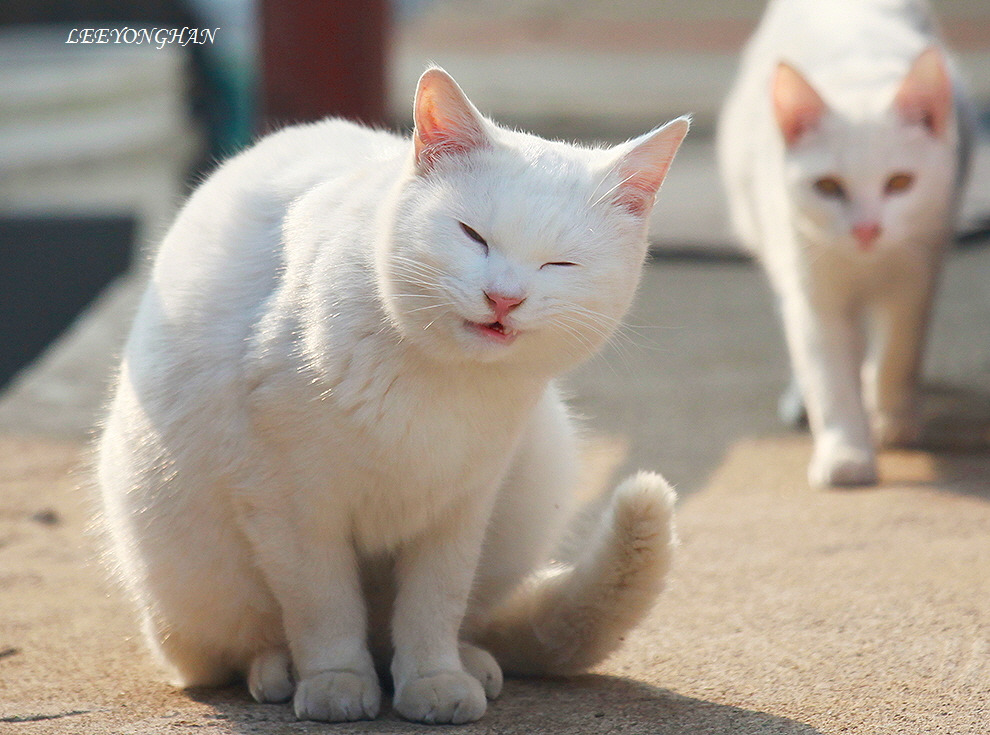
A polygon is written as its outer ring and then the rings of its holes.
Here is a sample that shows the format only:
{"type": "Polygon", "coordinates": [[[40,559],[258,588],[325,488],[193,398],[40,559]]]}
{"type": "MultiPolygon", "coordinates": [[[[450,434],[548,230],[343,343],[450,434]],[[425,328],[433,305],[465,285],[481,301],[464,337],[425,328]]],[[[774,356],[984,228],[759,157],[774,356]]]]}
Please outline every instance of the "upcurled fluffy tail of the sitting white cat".
{"type": "Polygon", "coordinates": [[[674,500],[659,475],[625,480],[573,564],[527,580],[477,642],[510,674],[574,674],[604,659],[663,588],[677,544],[674,500]]]}

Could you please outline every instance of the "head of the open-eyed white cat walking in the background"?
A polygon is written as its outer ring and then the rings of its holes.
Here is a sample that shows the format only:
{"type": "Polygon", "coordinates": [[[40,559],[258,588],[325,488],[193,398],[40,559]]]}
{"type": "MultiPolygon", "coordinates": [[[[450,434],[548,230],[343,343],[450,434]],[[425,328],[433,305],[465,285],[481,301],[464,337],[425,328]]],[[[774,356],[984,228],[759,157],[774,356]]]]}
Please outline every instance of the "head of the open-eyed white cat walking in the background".
{"type": "Polygon", "coordinates": [[[909,246],[944,223],[955,184],[952,83],[930,47],[899,85],[826,102],[781,62],[772,101],[795,226],[852,252],[909,246]]]}

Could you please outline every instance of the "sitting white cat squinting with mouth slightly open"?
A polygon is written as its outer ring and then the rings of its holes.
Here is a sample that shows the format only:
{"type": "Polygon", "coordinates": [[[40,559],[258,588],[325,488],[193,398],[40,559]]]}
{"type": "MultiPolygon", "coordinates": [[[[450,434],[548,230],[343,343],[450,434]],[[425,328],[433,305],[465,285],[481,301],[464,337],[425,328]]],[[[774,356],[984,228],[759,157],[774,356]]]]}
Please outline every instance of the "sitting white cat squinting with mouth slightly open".
{"type": "Polygon", "coordinates": [[[569,565],[553,379],[626,312],[688,129],[614,149],[497,127],[440,69],[412,141],[327,120],[237,156],[162,244],[100,446],[113,550],[186,686],[298,717],[482,716],[646,612],[673,492],[640,473],[569,565]],[[482,646],[484,648],[482,648],[482,646]],[[394,654],[393,654],[394,651],[394,654]]]}

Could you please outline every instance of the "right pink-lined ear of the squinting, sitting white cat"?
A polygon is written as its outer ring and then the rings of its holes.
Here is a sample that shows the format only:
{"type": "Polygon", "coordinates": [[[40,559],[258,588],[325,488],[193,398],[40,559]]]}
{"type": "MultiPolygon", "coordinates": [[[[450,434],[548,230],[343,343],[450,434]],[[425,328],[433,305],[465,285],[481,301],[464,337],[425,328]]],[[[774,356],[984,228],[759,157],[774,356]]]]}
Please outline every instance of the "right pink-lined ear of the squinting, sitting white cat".
{"type": "Polygon", "coordinates": [[[690,126],[689,117],[679,117],[621,146],[623,153],[612,167],[619,179],[612,201],[632,214],[649,214],[690,126]]]}

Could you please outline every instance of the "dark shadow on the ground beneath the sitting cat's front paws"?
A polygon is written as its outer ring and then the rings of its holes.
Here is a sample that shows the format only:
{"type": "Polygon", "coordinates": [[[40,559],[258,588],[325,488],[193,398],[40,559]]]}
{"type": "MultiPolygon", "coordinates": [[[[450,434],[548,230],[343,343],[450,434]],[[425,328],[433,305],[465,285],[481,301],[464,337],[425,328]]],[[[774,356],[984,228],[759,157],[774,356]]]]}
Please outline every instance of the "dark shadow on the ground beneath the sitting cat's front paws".
{"type": "MultiPolygon", "coordinates": [[[[190,691],[216,710],[216,719],[235,732],[325,731],[322,723],[297,722],[290,705],[260,705],[243,687],[190,691]]],[[[506,682],[502,695],[479,721],[461,727],[430,727],[405,722],[389,708],[373,722],[333,726],[334,733],[447,733],[498,735],[580,735],[580,733],[656,733],[657,735],[821,735],[809,725],[681,696],[667,689],[613,676],[587,675],[568,680],[526,679],[506,682]]]]}

